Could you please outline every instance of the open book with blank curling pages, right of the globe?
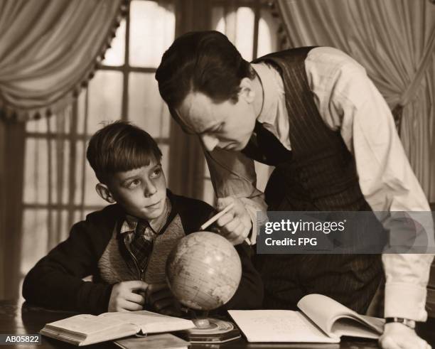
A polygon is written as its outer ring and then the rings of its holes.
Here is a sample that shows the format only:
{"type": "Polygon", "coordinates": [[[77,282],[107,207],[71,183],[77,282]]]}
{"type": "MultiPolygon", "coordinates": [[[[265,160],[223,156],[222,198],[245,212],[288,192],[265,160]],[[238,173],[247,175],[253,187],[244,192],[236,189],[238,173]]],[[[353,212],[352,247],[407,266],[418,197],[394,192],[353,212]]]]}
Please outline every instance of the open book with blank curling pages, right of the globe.
{"type": "Polygon", "coordinates": [[[363,316],[321,294],[298,302],[301,311],[230,310],[249,342],[338,343],[342,335],[379,338],[384,320],[363,316]]]}

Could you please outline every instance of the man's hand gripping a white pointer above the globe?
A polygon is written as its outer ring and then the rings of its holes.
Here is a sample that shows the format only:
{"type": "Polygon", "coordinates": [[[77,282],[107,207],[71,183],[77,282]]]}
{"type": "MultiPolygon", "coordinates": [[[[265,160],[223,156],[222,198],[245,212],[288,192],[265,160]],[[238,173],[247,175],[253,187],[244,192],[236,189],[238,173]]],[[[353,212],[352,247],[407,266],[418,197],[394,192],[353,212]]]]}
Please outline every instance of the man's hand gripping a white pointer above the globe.
{"type": "Polygon", "coordinates": [[[223,210],[230,203],[234,203],[232,209],[222,215],[216,223],[220,227],[220,235],[225,237],[232,245],[239,245],[249,235],[252,222],[245,205],[240,199],[233,196],[218,198],[218,210],[223,210]]]}

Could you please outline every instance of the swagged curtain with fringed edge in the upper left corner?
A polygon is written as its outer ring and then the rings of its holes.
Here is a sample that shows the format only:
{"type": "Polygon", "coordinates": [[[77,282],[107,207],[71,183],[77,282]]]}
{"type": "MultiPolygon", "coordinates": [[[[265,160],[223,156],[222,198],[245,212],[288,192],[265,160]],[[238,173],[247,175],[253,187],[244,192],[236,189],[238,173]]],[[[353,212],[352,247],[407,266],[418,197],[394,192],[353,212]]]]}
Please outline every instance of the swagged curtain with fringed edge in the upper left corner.
{"type": "Polygon", "coordinates": [[[0,109],[20,120],[77,97],[114,37],[122,0],[0,2],[0,109]]]}

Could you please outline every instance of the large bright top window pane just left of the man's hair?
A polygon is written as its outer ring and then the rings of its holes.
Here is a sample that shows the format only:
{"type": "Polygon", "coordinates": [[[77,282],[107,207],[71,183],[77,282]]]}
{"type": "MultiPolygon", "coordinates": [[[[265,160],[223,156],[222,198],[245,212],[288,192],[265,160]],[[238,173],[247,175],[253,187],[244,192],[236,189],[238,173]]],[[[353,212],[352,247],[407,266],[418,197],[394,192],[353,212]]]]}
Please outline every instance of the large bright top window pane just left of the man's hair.
{"type": "Polygon", "coordinates": [[[131,1],[129,63],[138,67],[156,68],[163,52],[175,36],[173,4],[156,1],[131,1]]]}

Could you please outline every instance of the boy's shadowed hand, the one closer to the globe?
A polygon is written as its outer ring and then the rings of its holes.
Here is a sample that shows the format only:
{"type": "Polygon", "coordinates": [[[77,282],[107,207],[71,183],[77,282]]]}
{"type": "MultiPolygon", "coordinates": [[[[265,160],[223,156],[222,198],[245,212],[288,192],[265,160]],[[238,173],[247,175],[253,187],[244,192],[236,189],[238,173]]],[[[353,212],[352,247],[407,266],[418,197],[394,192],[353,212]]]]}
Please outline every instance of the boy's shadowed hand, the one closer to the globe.
{"type": "Polygon", "coordinates": [[[175,299],[167,284],[149,284],[146,304],[152,311],[170,316],[181,316],[181,304],[175,299]]]}

